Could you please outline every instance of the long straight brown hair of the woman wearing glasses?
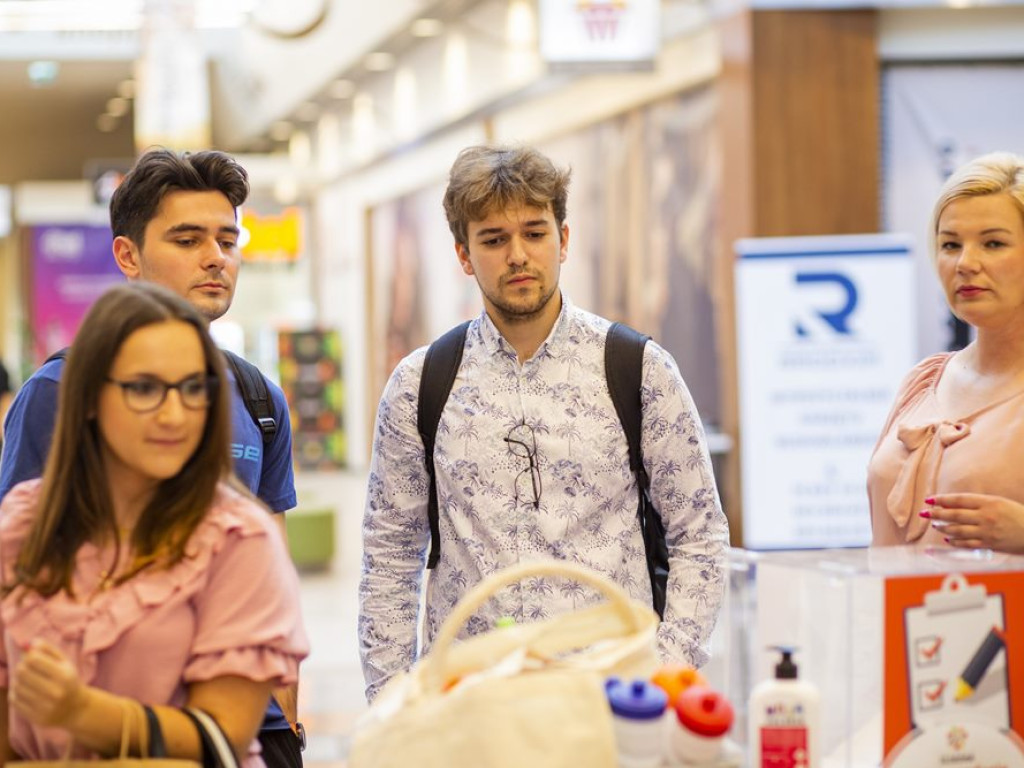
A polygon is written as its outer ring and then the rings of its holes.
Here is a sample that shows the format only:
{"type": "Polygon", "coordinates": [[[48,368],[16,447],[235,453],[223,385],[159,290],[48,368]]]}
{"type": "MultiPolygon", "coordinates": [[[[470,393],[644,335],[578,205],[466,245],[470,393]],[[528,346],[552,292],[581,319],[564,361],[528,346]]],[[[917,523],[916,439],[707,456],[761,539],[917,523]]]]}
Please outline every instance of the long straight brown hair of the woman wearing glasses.
{"type": "MultiPolygon", "coordinates": [[[[15,564],[15,583],[44,596],[72,592],[78,550],[86,542],[120,538],[103,471],[96,423],[100,388],[125,340],[146,326],[177,321],[194,327],[203,345],[207,374],[217,386],[196,453],[174,477],[160,483],[132,532],[135,562],[170,566],[213,503],[217,483],[230,476],[230,406],[223,356],[199,312],[183,299],[151,283],[106,291],[86,314],[68,354],[60,381],[56,427],[32,529],[15,564]]],[[[129,570],[127,577],[130,578],[129,570]]]]}

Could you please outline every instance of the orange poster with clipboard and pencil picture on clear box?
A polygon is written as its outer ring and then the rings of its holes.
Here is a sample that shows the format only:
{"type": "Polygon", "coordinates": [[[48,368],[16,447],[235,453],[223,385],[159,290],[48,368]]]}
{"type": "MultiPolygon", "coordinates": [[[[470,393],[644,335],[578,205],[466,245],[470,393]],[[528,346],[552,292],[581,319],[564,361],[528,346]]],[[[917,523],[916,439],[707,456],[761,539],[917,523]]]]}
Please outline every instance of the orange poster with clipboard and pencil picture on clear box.
{"type": "Polygon", "coordinates": [[[885,599],[884,765],[1024,766],[1024,571],[894,577],[885,599]]]}

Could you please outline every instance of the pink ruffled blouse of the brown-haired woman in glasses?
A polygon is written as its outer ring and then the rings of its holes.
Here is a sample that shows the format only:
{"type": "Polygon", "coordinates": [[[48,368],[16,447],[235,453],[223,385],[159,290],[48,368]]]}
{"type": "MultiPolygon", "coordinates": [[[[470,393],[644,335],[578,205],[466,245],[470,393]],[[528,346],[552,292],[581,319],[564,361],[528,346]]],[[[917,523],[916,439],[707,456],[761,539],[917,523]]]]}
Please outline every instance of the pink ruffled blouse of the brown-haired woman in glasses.
{"type": "MultiPolygon", "coordinates": [[[[5,584],[13,581],[40,487],[40,480],[24,482],[0,506],[5,584]]],[[[7,595],[0,601],[0,687],[8,688],[20,649],[37,637],[60,648],[86,684],[151,705],[180,707],[189,683],[223,675],[275,687],[295,682],[309,644],[298,575],[270,515],[221,485],[185,551],[172,568],[143,570],[97,592],[113,547],[89,544],[78,554],[78,597],[43,598],[22,589],[7,595]]],[[[8,735],[26,760],[55,760],[67,750],[66,731],[35,726],[13,711],[8,735]]],[[[246,768],[262,764],[254,740],[246,768]]]]}

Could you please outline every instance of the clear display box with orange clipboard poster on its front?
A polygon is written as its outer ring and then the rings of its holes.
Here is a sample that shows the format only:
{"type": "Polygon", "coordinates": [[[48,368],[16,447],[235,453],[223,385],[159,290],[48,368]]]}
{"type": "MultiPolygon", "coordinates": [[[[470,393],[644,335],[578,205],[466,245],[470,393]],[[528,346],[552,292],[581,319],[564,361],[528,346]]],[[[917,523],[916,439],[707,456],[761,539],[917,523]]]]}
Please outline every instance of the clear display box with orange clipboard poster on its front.
{"type": "Polygon", "coordinates": [[[1024,557],[734,550],[730,570],[705,672],[740,702],[744,750],[742,702],[783,645],[820,693],[824,768],[1024,766],[1024,557]]]}

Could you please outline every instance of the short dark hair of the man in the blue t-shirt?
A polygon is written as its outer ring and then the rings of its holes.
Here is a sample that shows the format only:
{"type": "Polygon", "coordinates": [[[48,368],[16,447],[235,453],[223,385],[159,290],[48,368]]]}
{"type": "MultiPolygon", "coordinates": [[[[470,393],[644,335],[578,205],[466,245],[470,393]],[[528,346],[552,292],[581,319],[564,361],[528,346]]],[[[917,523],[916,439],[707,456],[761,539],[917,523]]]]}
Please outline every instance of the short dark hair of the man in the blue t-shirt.
{"type": "Polygon", "coordinates": [[[111,197],[111,229],[139,248],[146,225],[172,191],[219,191],[236,208],[249,197],[249,174],[230,155],[215,150],[175,153],[150,150],[111,197]]]}

